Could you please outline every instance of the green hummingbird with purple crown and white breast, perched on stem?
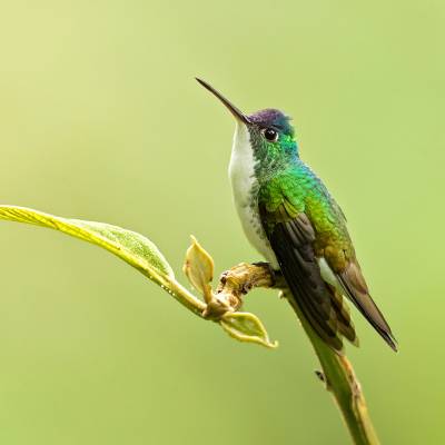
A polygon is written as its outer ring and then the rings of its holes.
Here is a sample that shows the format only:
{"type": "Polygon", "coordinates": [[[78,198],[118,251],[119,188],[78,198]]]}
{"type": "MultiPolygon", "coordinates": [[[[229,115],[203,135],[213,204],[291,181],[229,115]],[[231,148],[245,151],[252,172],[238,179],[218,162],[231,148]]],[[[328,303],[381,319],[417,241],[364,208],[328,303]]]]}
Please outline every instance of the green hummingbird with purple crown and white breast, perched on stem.
{"type": "Polygon", "coordinates": [[[369,295],[346,217],[301,160],[290,118],[273,108],[245,115],[205,80],[196,80],[236,120],[229,178],[245,235],[284,276],[308,324],[335,352],[343,352],[344,338],[358,346],[346,297],[397,350],[390,327],[369,295]]]}

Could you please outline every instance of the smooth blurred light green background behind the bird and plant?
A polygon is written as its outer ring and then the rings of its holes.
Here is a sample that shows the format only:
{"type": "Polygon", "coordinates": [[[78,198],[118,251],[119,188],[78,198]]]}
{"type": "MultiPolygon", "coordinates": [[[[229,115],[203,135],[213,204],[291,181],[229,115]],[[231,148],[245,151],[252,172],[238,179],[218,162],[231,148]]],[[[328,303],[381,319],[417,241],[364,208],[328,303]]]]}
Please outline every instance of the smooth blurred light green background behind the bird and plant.
{"type": "MultiPolygon", "coordinates": [[[[355,313],[380,438],[444,443],[444,20],[441,1],[3,2],[1,202],[140,231],[178,276],[194,234],[219,274],[259,257],[231,204],[233,119],[194,76],[284,109],[399,339],[355,313]]],[[[97,247],[11,222],[0,243],[0,443],[348,443],[274,293],[247,301],[270,352],[97,247]]]]}

